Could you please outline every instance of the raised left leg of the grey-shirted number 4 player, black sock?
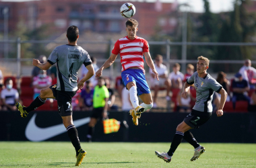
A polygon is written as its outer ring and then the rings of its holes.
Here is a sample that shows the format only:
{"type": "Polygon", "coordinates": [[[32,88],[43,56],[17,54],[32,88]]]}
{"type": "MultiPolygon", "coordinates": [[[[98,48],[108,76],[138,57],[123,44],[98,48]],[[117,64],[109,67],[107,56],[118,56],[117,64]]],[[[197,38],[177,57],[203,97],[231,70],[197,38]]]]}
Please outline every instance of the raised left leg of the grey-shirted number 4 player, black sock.
{"type": "MultiPolygon", "coordinates": [[[[54,86],[56,87],[56,85],[53,85],[51,87],[54,87],[54,86]]],[[[38,95],[38,97],[36,97],[36,99],[34,99],[34,101],[32,101],[32,103],[30,103],[30,106],[28,107],[22,106],[19,102],[16,102],[16,107],[20,111],[20,115],[22,116],[22,118],[26,118],[29,112],[36,110],[37,108],[42,106],[45,103],[46,98],[55,99],[55,96],[53,94],[51,87],[42,89],[40,91],[40,95],[38,95]]]]}

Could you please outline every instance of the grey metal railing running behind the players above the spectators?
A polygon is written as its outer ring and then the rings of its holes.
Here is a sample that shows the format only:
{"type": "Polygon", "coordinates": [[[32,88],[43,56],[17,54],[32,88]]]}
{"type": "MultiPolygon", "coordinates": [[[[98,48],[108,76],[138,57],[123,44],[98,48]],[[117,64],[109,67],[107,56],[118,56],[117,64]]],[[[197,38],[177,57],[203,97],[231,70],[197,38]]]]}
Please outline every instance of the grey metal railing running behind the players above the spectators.
{"type": "MultiPolygon", "coordinates": [[[[22,61],[27,61],[31,60],[31,58],[21,58],[21,44],[66,44],[67,41],[63,40],[57,40],[57,41],[52,41],[52,40],[22,40],[21,38],[17,38],[17,40],[0,40],[0,43],[15,43],[16,44],[16,50],[17,50],[17,55],[16,58],[0,58],[0,60],[14,60],[17,61],[17,67],[18,67],[18,72],[17,72],[17,77],[19,78],[21,76],[21,62],[22,61]]],[[[168,73],[170,70],[170,64],[174,62],[179,62],[182,65],[182,69],[185,69],[185,65],[187,63],[195,63],[197,60],[187,60],[187,59],[170,59],[170,47],[171,46],[256,46],[256,42],[170,42],[170,40],[166,41],[149,41],[148,42],[150,45],[162,45],[166,46],[166,67],[168,69],[168,73]]],[[[83,41],[79,40],[79,44],[108,44],[109,45],[109,55],[111,54],[111,50],[113,48],[113,45],[115,42],[113,40],[108,40],[108,41],[83,41]]],[[[185,51],[187,52],[187,50],[185,51]]],[[[185,53],[187,54],[187,53],[185,53]]],[[[104,62],[106,58],[99,58],[98,62],[104,62]]],[[[120,61],[120,59],[117,59],[117,61],[120,61]]],[[[220,63],[220,64],[243,64],[242,60],[210,60],[211,63],[220,63]]],[[[252,60],[253,64],[256,64],[256,60],[252,60]]],[[[114,69],[113,66],[110,67],[110,77],[114,77],[114,69]]]]}

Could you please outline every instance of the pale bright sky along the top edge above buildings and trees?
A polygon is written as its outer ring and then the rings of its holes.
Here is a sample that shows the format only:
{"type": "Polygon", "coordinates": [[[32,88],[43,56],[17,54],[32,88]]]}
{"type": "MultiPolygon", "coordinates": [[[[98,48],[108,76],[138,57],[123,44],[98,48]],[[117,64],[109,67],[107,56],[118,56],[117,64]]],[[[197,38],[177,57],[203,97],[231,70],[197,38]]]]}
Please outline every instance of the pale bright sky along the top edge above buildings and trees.
{"type": "MultiPolygon", "coordinates": [[[[31,0],[1,0],[1,1],[31,1],[31,0]]],[[[108,0],[105,0],[108,1],[108,0]]],[[[115,0],[111,0],[115,1],[115,0]]],[[[155,2],[156,0],[121,0],[124,2],[133,2],[133,1],[147,1],[155,2]]],[[[175,0],[160,0],[161,2],[174,2],[175,0]]],[[[203,0],[177,0],[178,3],[189,3],[191,5],[191,11],[203,12],[203,0]]],[[[211,11],[218,13],[220,11],[230,11],[233,9],[234,0],[209,0],[211,11]]]]}

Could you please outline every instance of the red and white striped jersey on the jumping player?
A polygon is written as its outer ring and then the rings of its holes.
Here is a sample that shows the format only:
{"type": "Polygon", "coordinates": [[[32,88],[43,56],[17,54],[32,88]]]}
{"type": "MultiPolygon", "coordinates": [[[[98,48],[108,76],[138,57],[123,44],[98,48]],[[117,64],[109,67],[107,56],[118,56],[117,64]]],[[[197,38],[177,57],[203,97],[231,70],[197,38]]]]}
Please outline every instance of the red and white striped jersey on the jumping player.
{"type": "Polygon", "coordinates": [[[138,67],[144,71],[143,53],[150,52],[148,42],[138,36],[130,40],[128,36],[120,38],[115,43],[113,54],[120,54],[122,72],[131,67],[138,67]]]}

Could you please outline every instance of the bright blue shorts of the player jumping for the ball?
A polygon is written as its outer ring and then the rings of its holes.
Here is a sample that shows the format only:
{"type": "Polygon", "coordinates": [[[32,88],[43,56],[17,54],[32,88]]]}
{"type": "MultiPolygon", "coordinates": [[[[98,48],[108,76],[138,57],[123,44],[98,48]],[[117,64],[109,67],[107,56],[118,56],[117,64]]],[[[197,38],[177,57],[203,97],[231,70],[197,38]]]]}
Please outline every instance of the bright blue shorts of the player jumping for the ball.
{"type": "Polygon", "coordinates": [[[125,87],[129,82],[136,83],[138,95],[151,93],[150,87],[148,87],[145,75],[141,69],[127,69],[121,73],[121,76],[125,87]]]}

